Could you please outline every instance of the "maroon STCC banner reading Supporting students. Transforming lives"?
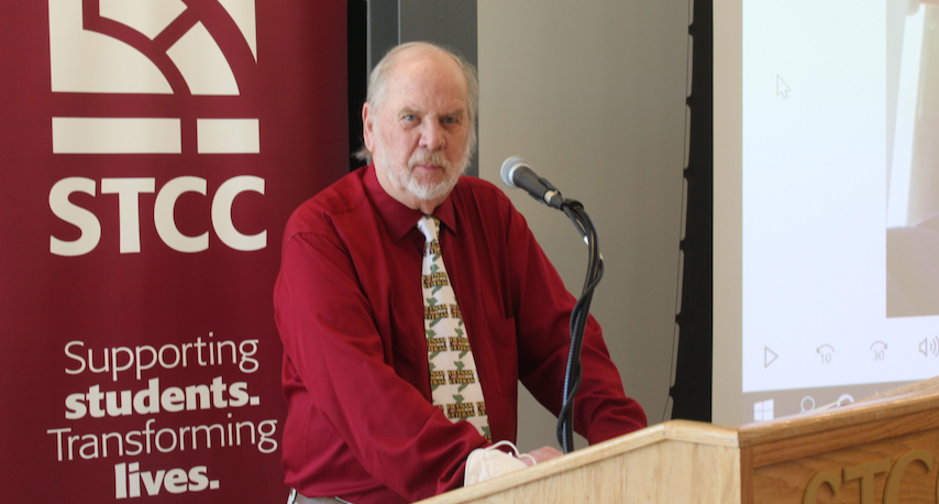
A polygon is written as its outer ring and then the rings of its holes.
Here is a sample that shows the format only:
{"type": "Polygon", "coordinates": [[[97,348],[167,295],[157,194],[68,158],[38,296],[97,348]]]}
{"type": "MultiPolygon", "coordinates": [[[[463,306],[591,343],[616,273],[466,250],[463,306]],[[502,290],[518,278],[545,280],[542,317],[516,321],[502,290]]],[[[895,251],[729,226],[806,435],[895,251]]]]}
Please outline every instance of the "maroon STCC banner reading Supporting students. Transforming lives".
{"type": "Polygon", "coordinates": [[[283,502],[272,292],[345,2],[0,7],[0,498],[283,502]]]}

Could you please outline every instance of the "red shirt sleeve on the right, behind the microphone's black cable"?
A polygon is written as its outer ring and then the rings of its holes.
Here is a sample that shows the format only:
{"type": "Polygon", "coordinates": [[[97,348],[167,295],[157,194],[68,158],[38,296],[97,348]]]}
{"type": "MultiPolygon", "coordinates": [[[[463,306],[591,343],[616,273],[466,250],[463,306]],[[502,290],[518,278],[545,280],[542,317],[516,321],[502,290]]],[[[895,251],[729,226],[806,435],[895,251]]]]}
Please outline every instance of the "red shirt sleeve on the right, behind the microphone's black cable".
{"type": "MultiPolygon", "coordinates": [[[[515,208],[509,209],[508,221],[509,250],[515,258],[512,303],[519,340],[519,379],[557,416],[571,341],[571,311],[576,299],[515,208]]],[[[593,316],[584,330],[581,361],[583,377],[574,401],[574,430],[593,445],[645,427],[645,414],[639,403],[626,396],[619,371],[593,316]]]]}

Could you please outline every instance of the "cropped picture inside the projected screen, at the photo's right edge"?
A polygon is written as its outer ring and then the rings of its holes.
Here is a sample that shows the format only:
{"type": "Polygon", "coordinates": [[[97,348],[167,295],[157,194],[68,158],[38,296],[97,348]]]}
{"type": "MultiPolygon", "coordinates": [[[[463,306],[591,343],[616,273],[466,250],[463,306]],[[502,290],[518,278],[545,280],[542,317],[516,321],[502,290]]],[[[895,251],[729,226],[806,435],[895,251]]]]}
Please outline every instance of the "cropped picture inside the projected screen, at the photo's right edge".
{"type": "Polygon", "coordinates": [[[939,2],[887,2],[887,317],[939,315],[939,2]]]}

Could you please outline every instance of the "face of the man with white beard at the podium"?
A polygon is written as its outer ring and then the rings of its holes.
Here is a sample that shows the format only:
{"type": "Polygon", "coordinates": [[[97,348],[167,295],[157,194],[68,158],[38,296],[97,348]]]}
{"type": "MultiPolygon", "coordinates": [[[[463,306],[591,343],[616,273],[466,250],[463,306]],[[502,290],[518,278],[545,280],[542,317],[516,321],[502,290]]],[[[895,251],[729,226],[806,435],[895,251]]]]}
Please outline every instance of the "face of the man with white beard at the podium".
{"type": "Polygon", "coordinates": [[[382,187],[432,213],[470,162],[466,81],[452,57],[432,48],[398,56],[377,110],[363,108],[364,138],[382,187]]]}

